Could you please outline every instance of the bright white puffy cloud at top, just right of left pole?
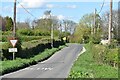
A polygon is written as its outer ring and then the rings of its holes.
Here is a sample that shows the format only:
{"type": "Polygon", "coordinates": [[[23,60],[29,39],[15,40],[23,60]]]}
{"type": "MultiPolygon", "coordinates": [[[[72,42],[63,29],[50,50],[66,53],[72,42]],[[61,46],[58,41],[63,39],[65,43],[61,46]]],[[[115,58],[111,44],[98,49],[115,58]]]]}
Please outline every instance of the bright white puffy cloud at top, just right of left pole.
{"type": "MultiPolygon", "coordinates": [[[[30,0],[22,0],[20,4],[24,6],[25,8],[38,8],[42,7],[44,5],[44,0],[35,0],[35,1],[30,1],[30,0]]],[[[17,7],[21,8],[22,6],[18,4],[17,7]]]]}

